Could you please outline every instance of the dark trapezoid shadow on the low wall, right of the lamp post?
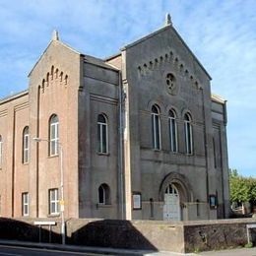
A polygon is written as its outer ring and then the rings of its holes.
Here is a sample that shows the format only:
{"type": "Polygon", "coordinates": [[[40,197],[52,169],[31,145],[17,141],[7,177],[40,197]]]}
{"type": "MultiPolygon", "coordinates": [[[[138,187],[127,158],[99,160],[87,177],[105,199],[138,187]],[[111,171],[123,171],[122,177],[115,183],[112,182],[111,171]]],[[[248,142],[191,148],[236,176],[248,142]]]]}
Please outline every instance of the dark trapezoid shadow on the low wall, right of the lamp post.
{"type": "Polygon", "coordinates": [[[158,251],[129,221],[102,220],[82,225],[71,233],[70,244],[158,251]]]}

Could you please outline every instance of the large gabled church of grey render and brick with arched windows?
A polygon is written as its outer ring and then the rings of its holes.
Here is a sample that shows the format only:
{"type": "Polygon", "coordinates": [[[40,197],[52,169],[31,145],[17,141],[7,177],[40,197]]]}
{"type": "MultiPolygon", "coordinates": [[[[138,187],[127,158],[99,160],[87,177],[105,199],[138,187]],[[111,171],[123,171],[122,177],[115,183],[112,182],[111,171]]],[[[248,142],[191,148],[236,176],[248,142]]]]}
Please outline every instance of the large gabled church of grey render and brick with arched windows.
{"type": "Polygon", "coordinates": [[[53,32],[29,79],[0,99],[1,217],[228,217],[226,102],[168,15],[106,59],[53,32]]]}

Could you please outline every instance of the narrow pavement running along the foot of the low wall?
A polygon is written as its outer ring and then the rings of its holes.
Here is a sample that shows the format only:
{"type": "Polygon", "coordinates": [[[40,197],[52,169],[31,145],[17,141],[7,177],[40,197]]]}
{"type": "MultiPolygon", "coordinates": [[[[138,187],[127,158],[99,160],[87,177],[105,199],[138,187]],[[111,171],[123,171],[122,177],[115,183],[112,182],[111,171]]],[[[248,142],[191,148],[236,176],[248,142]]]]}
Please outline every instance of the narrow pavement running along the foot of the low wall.
{"type": "Polygon", "coordinates": [[[239,249],[228,249],[223,251],[207,251],[201,253],[176,253],[167,251],[147,251],[147,250],[130,250],[130,249],[119,249],[119,248],[107,248],[107,247],[93,247],[93,246],[78,246],[78,245],[62,245],[54,243],[35,243],[25,242],[17,240],[4,240],[0,239],[0,245],[16,246],[23,248],[37,248],[37,249],[48,249],[56,251],[76,252],[94,255],[142,255],[142,256],[178,256],[178,255],[206,255],[206,256],[256,256],[256,247],[253,248],[239,248],[239,249]]]}

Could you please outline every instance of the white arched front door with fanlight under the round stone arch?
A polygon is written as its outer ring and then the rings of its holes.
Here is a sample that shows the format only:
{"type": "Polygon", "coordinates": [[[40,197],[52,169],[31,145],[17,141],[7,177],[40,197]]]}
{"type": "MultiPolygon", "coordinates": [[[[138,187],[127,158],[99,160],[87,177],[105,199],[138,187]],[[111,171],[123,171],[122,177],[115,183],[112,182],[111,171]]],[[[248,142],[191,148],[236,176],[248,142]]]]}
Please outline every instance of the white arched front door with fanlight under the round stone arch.
{"type": "Polygon", "coordinates": [[[177,188],[168,184],[165,188],[163,221],[180,221],[180,198],[177,188]]]}

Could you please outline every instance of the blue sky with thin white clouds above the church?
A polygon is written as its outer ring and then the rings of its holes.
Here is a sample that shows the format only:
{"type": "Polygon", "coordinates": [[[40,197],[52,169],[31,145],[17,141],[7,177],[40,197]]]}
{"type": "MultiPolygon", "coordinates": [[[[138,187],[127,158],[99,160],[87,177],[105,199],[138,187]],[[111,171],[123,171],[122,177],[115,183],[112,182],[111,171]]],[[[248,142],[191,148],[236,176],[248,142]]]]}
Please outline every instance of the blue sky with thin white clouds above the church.
{"type": "Polygon", "coordinates": [[[256,176],[255,0],[0,0],[0,97],[28,88],[54,29],[72,47],[106,57],[158,30],[170,13],[227,99],[229,166],[256,176]]]}

